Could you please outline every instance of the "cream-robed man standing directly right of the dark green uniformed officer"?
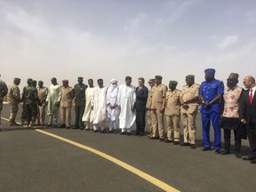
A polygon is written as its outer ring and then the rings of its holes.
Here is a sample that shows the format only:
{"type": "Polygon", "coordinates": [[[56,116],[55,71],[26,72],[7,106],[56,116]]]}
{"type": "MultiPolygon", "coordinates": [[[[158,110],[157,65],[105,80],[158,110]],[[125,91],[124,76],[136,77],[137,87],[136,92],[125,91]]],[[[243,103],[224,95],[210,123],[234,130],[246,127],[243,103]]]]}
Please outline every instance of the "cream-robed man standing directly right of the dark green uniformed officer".
{"type": "Polygon", "coordinates": [[[85,122],[85,131],[90,131],[92,124],[90,123],[90,118],[92,114],[92,95],[95,87],[93,86],[93,80],[88,80],[89,86],[85,90],[85,108],[82,121],[85,122]]]}

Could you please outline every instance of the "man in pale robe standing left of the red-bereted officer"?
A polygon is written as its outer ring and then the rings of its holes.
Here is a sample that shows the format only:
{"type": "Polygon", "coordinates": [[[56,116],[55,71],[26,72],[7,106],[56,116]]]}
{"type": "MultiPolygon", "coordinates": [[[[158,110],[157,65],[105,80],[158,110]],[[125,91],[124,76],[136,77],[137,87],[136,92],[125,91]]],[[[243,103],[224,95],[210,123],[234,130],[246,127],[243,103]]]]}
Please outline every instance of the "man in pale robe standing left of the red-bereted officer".
{"type": "Polygon", "coordinates": [[[49,115],[48,126],[57,127],[60,108],[60,84],[57,83],[57,79],[53,77],[51,79],[52,84],[49,88],[46,101],[48,102],[47,114],[49,115]]]}

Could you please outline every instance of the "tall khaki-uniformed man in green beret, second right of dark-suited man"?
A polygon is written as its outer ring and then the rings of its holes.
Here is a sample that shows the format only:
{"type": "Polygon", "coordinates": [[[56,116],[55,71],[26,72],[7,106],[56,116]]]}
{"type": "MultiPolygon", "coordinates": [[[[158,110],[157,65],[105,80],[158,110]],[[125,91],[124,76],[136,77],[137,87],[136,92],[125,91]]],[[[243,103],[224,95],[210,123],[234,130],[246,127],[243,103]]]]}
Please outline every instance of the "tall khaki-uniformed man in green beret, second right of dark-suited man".
{"type": "Polygon", "coordinates": [[[164,107],[166,98],[166,86],[162,84],[162,76],[156,76],[156,84],[152,88],[151,95],[151,115],[153,135],[150,139],[158,139],[157,128],[159,134],[159,140],[164,141],[164,107]]]}

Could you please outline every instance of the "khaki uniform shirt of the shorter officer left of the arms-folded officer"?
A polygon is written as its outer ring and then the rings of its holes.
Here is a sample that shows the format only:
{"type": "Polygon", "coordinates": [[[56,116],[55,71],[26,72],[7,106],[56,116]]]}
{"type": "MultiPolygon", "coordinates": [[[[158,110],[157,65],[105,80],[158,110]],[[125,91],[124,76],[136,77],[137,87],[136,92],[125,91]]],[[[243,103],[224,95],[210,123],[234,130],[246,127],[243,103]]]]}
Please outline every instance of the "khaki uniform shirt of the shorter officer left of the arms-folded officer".
{"type": "Polygon", "coordinates": [[[165,116],[180,116],[180,90],[166,92],[165,116]]]}

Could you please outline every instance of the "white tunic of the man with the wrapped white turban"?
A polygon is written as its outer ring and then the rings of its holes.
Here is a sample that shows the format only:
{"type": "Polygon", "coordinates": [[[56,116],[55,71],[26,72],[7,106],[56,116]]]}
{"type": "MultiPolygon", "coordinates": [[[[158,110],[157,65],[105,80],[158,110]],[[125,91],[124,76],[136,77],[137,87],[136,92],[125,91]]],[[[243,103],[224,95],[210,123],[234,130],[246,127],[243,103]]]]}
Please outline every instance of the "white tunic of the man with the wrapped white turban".
{"type": "Polygon", "coordinates": [[[108,118],[110,121],[116,121],[119,116],[119,109],[117,108],[117,94],[118,94],[119,87],[109,87],[107,92],[107,106],[110,104],[111,106],[116,106],[116,108],[107,107],[108,111],[108,118]]]}

